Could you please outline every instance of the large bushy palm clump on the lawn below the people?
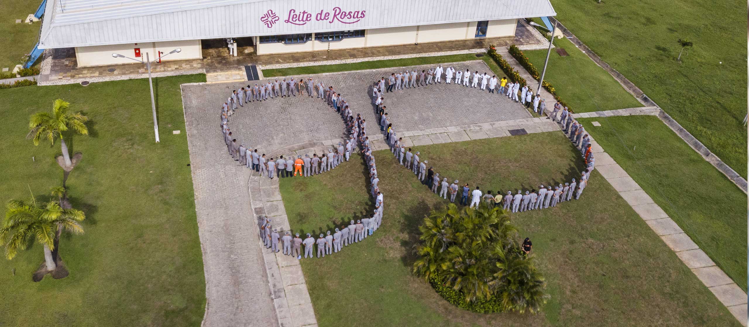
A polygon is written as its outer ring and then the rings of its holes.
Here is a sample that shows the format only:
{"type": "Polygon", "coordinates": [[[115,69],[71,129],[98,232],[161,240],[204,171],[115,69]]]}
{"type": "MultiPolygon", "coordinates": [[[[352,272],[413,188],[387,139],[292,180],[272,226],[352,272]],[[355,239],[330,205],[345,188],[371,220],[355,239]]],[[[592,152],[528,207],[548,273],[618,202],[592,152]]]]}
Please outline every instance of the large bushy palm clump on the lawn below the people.
{"type": "Polygon", "coordinates": [[[533,258],[521,251],[517,229],[500,208],[458,210],[449,204],[419,226],[421,257],[413,272],[446,301],[473,312],[537,312],[548,300],[533,258]]]}

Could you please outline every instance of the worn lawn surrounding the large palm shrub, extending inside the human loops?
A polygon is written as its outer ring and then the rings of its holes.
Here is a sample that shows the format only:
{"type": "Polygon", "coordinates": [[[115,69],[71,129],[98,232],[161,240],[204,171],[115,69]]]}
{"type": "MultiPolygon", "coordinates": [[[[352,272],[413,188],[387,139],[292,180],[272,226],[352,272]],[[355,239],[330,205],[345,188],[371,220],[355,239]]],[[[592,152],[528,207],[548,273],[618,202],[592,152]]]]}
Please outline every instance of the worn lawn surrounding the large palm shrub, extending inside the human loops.
{"type": "MultiPolygon", "coordinates": [[[[579,152],[560,132],[413,148],[450,181],[484,190],[527,190],[581,169],[579,152]]],[[[341,253],[302,261],[320,326],[341,326],[342,319],[349,326],[739,326],[598,172],[580,200],[513,215],[520,237],[532,238],[548,281],[551,301],[541,314],[455,308],[410,272],[417,226],[446,201],[398,166],[390,152],[375,157],[385,199],[380,230],[341,253]],[[351,310],[356,319],[342,316],[351,310]]],[[[366,207],[361,161],[339,169],[281,181],[292,229],[327,228],[327,222],[366,207]],[[306,196],[294,190],[306,190],[306,196]]]]}

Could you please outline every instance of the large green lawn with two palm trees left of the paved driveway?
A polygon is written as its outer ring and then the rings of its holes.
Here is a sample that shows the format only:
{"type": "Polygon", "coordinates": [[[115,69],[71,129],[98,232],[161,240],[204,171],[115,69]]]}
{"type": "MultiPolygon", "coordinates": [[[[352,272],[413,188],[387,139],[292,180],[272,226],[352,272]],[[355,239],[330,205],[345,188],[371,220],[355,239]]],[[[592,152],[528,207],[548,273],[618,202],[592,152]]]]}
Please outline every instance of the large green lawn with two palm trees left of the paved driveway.
{"type": "Polygon", "coordinates": [[[91,136],[68,142],[83,153],[67,185],[87,216],[84,234],[61,237],[70,275],[32,282],[43,262],[37,244],[0,259],[0,326],[200,325],[205,281],[179,88],[196,81],[205,76],[154,78],[161,143],[147,79],[0,90],[2,204],[61,184],[59,143],[25,140],[31,113],[61,98],[91,119],[91,136]]]}

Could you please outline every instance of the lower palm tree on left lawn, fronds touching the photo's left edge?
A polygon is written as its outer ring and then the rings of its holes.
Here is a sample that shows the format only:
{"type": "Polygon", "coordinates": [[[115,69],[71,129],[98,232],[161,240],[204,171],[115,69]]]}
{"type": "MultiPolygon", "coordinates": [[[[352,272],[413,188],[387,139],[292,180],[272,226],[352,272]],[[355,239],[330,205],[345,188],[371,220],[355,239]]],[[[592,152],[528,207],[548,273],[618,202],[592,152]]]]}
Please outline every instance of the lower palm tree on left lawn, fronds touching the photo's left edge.
{"type": "Polygon", "coordinates": [[[78,222],[85,219],[83,211],[64,209],[59,202],[50,201],[37,203],[34,196],[31,201],[10,200],[7,202],[5,219],[0,228],[0,240],[5,247],[5,256],[10,260],[19,249],[26,249],[28,240],[32,237],[43,246],[44,261],[49,271],[57,267],[52,258],[55,249],[55,230],[58,226],[82,233],[83,228],[78,222]]]}

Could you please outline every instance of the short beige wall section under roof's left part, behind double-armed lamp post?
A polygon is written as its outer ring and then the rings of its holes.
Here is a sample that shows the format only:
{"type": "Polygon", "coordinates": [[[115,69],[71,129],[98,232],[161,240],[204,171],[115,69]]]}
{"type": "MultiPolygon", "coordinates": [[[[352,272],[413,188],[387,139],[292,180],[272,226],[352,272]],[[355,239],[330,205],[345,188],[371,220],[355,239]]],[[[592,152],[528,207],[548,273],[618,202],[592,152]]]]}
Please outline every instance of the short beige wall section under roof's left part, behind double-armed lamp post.
{"type": "Polygon", "coordinates": [[[166,55],[170,51],[181,48],[182,52],[173,53],[166,60],[198,59],[203,57],[200,40],[184,40],[169,42],[147,42],[147,43],[125,43],[106,46],[79,46],[76,48],[76,60],[79,67],[102,66],[120,63],[135,63],[135,61],[112,57],[113,53],[131,57],[133,59],[145,60],[148,53],[151,60],[157,60],[158,52],[166,55]],[[135,49],[140,49],[141,57],[136,57],[135,49]]]}

